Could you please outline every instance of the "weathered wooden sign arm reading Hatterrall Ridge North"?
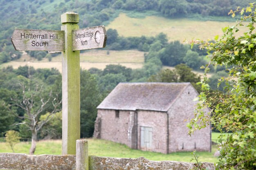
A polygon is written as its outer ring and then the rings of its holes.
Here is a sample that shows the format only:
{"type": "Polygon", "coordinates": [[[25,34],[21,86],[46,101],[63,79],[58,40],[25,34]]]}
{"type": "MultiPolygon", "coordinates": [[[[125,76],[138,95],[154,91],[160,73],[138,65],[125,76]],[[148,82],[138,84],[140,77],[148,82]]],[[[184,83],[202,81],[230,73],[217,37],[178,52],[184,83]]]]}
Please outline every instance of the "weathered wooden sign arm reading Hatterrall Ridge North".
{"type": "Polygon", "coordinates": [[[72,50],[104,48],[107,34],[105,26],[94,26],[72,31],[72,50]]]}

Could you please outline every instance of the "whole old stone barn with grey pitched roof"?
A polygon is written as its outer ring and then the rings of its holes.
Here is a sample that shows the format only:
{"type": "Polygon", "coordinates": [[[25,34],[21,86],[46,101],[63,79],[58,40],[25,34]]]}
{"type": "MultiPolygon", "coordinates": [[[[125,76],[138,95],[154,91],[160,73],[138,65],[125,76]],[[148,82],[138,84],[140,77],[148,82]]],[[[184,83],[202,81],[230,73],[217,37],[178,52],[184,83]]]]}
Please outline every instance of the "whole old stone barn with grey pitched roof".
{"type": "Polygon", "coordinates": [[[119,83],[97,107],[94,137],[160,153],[211,151],[210,126],[189,136],[191,83],[119,83]]]}

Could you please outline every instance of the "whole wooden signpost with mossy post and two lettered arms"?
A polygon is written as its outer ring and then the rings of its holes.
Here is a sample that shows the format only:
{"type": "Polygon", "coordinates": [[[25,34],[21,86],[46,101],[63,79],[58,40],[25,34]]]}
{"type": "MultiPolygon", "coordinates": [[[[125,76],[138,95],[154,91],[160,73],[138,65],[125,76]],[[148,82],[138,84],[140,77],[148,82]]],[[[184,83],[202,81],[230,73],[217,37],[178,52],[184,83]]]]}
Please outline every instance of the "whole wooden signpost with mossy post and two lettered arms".
{"type": "Polygon", "coordinates": [[[16,50],[62,52],[62,154],[76,154],[80,139],[80,51],[106,46],[104,26],[79,29],[79,15],[61,15],[61,31],[16,29],[16,50]]]}

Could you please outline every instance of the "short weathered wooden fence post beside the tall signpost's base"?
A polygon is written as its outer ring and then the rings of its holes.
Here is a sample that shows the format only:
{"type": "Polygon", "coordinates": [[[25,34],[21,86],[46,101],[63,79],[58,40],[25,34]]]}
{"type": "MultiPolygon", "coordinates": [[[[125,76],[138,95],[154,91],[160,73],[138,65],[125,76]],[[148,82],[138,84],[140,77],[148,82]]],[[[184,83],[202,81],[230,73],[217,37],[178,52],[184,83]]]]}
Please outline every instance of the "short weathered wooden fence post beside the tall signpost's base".
{"type": "Polygon", "coordinates": [[[87,140],[76,140],[76,170],[89,170],[87,140]]]}

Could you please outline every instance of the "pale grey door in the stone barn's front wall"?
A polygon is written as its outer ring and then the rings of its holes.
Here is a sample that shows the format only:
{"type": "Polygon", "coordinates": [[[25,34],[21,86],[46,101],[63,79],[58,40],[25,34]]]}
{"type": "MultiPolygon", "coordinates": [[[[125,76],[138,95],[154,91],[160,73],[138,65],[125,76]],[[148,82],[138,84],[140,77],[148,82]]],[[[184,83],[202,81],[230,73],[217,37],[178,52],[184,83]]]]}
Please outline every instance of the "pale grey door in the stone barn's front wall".
{"type": "Polygon", "coordinates": [[[152,130],[151,127],[140,126],[140,149],[152,150],[152,130]]]}

